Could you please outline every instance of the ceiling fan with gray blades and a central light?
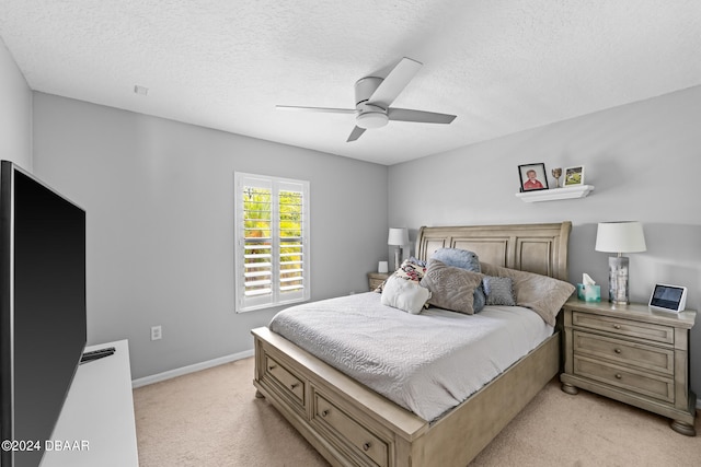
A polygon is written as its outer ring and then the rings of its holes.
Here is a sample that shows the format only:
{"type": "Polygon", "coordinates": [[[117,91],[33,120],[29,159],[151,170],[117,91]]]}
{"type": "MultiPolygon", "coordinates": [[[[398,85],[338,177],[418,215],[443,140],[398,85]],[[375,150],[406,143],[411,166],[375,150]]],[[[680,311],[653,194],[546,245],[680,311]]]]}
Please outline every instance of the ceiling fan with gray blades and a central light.
{"type": "Polygon", "coordinates": [[[392,71],[390,71],[387,78],[360,78],[355,83],[355,108],[300,107],[294,105],[277,105],[276,108],[284,110],[355,114],[355,128],[350,131],[347,142],[360,138],[366,129],[386,126],[389,120],[414,121],[420,124],[450,124],[455,120],[455,115],[390,107],[422,66],[423,63],[404,57],[392,71]]]}

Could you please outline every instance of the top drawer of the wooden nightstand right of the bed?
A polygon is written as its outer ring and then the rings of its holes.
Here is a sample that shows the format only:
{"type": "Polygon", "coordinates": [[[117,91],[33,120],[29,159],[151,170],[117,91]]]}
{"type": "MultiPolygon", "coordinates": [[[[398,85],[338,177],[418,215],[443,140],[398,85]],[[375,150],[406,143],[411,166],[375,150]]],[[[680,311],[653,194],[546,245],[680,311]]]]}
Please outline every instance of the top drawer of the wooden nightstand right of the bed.
{"type": "Polygon", "coordinates": [[[671,326],[662,326],[652,323],[642,323],[581,312],[572,313],[572,325],[579,328],[611,332],[646,341],[663,343],[675,342],[675,328],[671,326]]]}

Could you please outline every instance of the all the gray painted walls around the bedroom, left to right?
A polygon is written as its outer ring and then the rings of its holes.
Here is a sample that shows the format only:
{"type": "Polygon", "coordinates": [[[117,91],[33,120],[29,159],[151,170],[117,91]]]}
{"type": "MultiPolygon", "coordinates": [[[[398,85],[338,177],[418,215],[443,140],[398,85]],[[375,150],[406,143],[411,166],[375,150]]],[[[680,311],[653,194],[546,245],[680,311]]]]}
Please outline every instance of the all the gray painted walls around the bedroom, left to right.
{"type": "MultiPolygon", "coordinates": [[[[605,284],[608,254],[594,252],[596,223],[634,219],[644,223],[647,252],[630,255],[632,299],[646,301],[655,282],[671,282],[688,287],[688,307],[701,310],[701,86],[389,171],[32,95],[1,42],[0,102],[0,157],[88,210],[89,340],[128,338],[134,377],[246,351],[249,329],[277,311],[233,313],[233,171],[311,182],[314,300],[366,288],[365,272],[388,257],[388,225],[409,226],[413,238],[421,225],[572,220],[571,281],[588,272],[605,284]],[[596,190],[524,203],[514,196],[516,167],[531,162],[584,164],[596,190]],[[149,328],[159,324],[164,338],[151,342],[149,328]]],[[[698,393],[701,324],[691,338],[698,393]]]]}

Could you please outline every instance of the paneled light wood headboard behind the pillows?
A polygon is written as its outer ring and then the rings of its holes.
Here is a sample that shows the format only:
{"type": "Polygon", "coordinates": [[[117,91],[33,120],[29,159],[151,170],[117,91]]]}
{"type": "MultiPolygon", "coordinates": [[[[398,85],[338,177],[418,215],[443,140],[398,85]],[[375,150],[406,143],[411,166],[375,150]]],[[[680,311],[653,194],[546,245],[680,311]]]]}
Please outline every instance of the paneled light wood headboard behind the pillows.
{"type": "Polygon", "coordinates": [[[423,226],[416,257],[427,260],[438,248],[474,252],[480,261],[567,281],[572,222],[552,224],[423,226]]]}

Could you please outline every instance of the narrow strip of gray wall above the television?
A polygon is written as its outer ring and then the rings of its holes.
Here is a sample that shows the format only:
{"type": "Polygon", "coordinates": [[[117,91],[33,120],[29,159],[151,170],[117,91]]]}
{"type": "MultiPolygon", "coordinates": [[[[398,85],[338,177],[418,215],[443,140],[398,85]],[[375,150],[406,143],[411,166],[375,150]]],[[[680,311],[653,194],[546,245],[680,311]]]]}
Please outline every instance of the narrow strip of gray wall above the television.
{"type": "Polygon", "coordinates": [[[32,171],[32,91],[0,38],[0,159],[32,171]]]}

